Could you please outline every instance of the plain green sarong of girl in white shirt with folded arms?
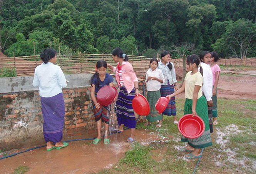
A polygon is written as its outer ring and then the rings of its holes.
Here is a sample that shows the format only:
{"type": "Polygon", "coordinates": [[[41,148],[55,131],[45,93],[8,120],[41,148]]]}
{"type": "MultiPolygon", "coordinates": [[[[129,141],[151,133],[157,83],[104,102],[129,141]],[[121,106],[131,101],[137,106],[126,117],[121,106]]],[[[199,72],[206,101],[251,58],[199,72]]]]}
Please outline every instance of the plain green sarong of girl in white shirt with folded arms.
{"type": "Polygon", "coordinates": [[[147,115],[147,120],[150,122],[162,120],[163,115],[162,113],[158,113],[156,110],[156,102],[161,97],[160,90],[157,91],[147,91],[147,101],[149,102],[150,112],[147,115]]]}

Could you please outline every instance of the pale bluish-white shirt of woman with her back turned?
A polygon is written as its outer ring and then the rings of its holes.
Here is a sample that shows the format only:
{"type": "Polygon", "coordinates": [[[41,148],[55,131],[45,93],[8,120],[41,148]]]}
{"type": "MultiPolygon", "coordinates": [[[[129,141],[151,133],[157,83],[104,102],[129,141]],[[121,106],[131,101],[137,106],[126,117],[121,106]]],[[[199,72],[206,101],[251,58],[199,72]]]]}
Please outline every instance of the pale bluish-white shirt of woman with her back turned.
{"type": "Polygon", "coordinates": [[[53,97],[62,92],[62,88],[67,86],[67,82],[60,66],[48,62],[35,68],[32,85],[39,87],[40,96],[53,97]]]}

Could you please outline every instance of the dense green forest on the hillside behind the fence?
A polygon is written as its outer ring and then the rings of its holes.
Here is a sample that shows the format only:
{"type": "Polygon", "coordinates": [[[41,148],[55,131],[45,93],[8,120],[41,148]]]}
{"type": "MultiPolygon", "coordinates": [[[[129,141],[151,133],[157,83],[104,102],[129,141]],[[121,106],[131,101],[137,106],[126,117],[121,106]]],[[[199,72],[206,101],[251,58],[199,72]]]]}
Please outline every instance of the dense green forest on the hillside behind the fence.
{"type": "Polygon", "coordinates": [[[256,0],[0,0],[0,51],[256,57],[255,23],[256,0]]]}

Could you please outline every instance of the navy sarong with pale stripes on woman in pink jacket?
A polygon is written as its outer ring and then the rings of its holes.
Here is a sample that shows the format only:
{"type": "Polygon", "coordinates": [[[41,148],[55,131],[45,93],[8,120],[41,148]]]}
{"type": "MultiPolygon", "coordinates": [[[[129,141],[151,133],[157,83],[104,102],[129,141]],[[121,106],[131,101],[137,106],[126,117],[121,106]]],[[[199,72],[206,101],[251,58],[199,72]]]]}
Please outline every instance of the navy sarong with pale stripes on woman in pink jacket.
{"type": "Polygon", "coordinates": [[[132,100],[135,97],[135,90],[132,89],[128,94],[125,87],[120,87],[120,91],[116,101],[116,115],[118,125],[124,124],[128,128],[136,128],[136,118],[134,109],[132,108],[132,100]]]}

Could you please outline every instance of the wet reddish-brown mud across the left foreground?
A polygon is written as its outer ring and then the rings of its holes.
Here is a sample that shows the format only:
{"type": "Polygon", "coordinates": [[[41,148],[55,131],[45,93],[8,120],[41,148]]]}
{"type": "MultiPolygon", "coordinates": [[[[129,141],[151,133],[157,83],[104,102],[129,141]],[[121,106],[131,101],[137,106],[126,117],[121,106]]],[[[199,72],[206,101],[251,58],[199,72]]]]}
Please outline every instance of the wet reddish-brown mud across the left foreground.
{"type": "MultiPolygon", "coordinates": [[[[109,136],[110,143],[104,144],[103,139],[98,144],[92,140],[72,141],[69,146],[62,149],[46,151],[45,147],[0,160],[0,173],[8,174],[18,166],[28,166],[26,174],[81,174],[85,172],[98,172],[100,169],[113,167],[125,151],[130,148],[130,130],[115,133],[109,136]],[[97,167],[96,167],[97,166],[97,167]]],[[[96,136],[96,135],[95,135],[96,136]]],[[[147,130],[136,130],[136,141],[147,145],[151,141],[170,140],[147,133],[147,130]]],[[[22,151],[22,150],[20,150],[22,151]]]]}

